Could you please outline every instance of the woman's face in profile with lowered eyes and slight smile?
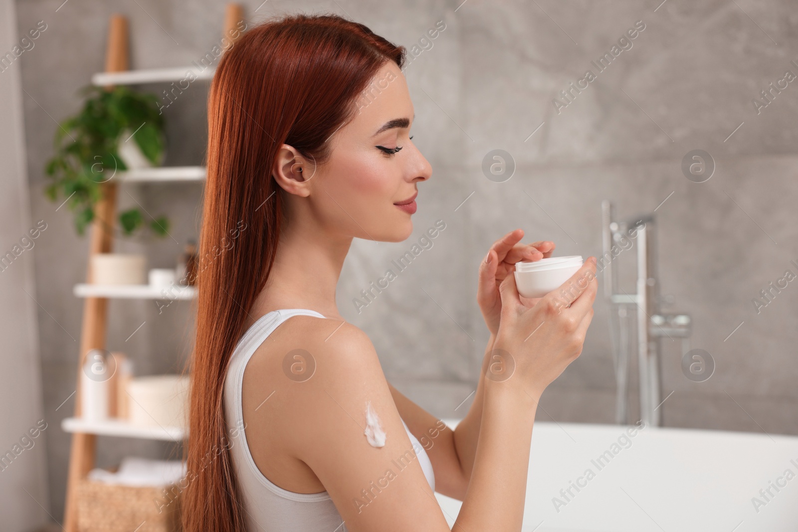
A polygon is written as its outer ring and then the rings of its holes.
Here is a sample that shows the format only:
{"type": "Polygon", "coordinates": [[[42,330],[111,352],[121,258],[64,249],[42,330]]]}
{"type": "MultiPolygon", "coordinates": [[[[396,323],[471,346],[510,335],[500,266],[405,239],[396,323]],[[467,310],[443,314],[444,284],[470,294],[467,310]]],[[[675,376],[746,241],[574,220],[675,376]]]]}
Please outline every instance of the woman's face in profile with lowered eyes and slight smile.
{"type": "Polygon", "coordinates": [[[327,164],[302,164],[310,177],[302,206],[309,212],[302,208],[302,215],[312,216],[324,231],[400,242],[413,232],[416,203],[397,203],[413,200],[417,183],[433,169],[410,140],[413,102],[396,63],[383,65],[356,106],[354,120],[330,139],[327,164]]]}

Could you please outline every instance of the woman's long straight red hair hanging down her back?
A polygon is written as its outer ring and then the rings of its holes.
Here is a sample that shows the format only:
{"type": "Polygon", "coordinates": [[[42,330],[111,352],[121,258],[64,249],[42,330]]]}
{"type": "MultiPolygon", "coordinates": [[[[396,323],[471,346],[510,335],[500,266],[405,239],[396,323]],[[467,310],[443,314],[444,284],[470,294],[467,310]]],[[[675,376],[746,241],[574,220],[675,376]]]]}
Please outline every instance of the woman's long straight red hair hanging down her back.
{"type": "MultiPolygon", "coordinates": [[[[354,118],[358,95],[405,48],[335,15],[290,14],[244,33],[216,68],[207,105],[207,181],[196,286],[196,343],[188,440],[185,532],[245,530],[223,384],[255,297],[266,285],[283,223],[271,176],[289,144],[325,164],[330,136],[354,118]]],[[[239,444],[236,441],[233,444],[239,444]]]]}

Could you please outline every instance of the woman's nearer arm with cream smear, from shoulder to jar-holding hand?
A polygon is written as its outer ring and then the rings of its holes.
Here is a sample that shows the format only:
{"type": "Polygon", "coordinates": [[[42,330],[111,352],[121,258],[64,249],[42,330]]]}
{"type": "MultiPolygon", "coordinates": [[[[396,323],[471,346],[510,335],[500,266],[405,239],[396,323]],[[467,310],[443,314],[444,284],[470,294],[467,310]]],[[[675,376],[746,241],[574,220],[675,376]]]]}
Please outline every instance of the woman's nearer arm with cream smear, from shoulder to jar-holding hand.
{"type": "MultiPolygon", "coordinates": [[[[586,262],[569,282],[586,273],[595,281],[595,262],[586,262]]],[[[514,358],[515,370],[509,378],[484,380],[484,415],[471,479],[452,530],[520,530],[535,408],[543,389],[581,352],[593,316],[593,281],[570,306],[563,306],[552,293],[532,309],[521,305],[512,275],[503,282],[502,329],[494,350],[514,358]],[[530,337],[529,331],[537,329],[530,337]]],[[[268,427],[269,437],[283,453],[310,468],[351,532],[448,532],[372,343],[354,325],[334,325],[290,335],[295,340],[281,345],[282,353],[284,348],[287,353],[310,353],[315,361],[312,378],[286,378],[276,390],[264,389],[274,392],[269,408],[258,412],[254,401],[244,404],[245,422],[268,427]],[[366,405],[387,433],[376,446],[364,435],[366,405]]],[[[251,374],[252,382],[279,375],[282,353],[271,358],[271,365],[264,364],[261,373],[251,374]]],[[[250,444],[257,446],[257,439],[250,444]]]]}

